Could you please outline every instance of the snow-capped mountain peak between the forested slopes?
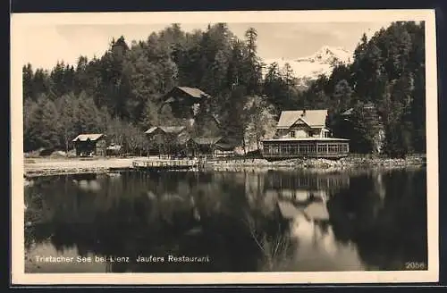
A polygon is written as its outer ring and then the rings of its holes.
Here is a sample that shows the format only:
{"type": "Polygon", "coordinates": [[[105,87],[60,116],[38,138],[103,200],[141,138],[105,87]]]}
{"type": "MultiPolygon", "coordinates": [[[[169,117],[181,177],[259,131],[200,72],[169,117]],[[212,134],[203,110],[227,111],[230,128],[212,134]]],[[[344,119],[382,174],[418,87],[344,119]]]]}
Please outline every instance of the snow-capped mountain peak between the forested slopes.
{"type": "Polygon", "coordinates": [[[267,68],[271,63],[278,63],[280,70],[283,70],[285,63],[291,65],[294,76],[299,80],[316,80],[321,75],[329,75],[333,71],[335,63],[351,63],[352,53],[342,47],[323,46],[316,53],[307,57],[290,59],[266,59],[267,68]]]}

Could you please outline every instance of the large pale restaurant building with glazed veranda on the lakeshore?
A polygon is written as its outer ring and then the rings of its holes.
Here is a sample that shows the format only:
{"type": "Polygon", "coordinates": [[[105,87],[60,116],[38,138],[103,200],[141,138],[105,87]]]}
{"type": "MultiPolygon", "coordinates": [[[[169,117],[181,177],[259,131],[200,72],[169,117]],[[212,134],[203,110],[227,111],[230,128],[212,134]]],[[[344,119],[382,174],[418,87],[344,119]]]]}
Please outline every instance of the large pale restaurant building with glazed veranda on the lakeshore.
{"type": "Polygon", "coordinates": [[[327,110],[283,111],[274,138],[262,141],[262,155],[267,160],[348,155],[349,139],[332,138],[326,118],[327,110]]]}

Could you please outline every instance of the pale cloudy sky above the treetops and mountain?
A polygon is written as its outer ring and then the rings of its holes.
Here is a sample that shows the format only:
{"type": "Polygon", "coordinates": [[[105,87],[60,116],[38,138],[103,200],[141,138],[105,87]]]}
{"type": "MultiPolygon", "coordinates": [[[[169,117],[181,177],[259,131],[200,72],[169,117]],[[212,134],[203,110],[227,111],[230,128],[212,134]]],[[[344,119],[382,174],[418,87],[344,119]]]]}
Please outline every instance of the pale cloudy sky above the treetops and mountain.
{"type": "MultiPolygon", "coordinates": [[[[205,22],[183,23],[181,29],[206,29],[205,22]]],[[[89,59],[105,53],[112,38],[123,36],[132,40],[145,40],[150,33],[170,23],[150,24],[43,24],[26,29],[22,36],[22,54],[25,63],[33,68],[50,70],[58,61],[76,64],[80,54],[89,59]]],[[[375,31],[386,28],[390,22],[236,22],[229,29],[243,38],[249,27],[257,29],[257,53],[262,59],[295,59],[313,54],[322,46],[341,46],[353,51],[363,33],[370,38],[375,31]]]]}

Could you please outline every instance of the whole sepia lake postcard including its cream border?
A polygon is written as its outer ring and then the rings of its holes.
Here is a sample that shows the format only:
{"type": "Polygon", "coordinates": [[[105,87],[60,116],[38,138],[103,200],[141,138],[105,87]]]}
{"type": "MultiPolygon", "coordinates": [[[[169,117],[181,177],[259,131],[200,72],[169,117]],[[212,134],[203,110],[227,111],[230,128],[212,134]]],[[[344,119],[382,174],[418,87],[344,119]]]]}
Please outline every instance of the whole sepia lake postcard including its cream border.
{"type": "Polygon", "coordinates": [[[438,278],[434,12],[12,16],[13,281],[438,278]]]}

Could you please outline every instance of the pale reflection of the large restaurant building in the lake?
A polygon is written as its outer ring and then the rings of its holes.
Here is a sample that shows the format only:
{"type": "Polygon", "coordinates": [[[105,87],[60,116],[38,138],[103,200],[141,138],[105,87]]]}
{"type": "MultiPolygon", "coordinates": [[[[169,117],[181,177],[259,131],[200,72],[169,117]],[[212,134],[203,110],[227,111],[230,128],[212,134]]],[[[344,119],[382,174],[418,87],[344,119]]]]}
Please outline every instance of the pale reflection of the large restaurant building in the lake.
{"type": "MultiPolygon", "coordinates": [[[[350,188],[350,176],[344,173],[267,172],[249,173],[246,194],[264,198],[266,213],[276,211],[288,222],[288,237],[294,251],[287,271],[364,270],[353,243],[340,243],[333,233],[327,201],[333,193],[350,188]],[[342,255],[342,257],[341,257],[342,255]]],[[[257,205],[259,208],[259,205],[257,205]]]]}

